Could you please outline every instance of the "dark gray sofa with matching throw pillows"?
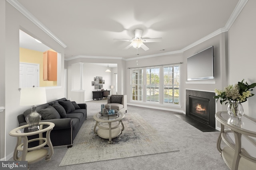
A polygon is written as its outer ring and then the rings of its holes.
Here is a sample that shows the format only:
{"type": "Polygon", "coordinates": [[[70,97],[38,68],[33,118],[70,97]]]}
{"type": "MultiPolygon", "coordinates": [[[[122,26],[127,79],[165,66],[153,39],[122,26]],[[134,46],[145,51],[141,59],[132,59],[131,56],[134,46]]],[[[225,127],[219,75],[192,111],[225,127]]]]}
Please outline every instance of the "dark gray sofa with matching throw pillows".
{"type": "MultiPolygon", "coordinates": [[[[72,147],[80,128],[87,118],[87,105],[76,104],[62,98],[36,107],[36,111],[42,115],[41,122],[47,121],[55,124],[50,133],[53,146],[72,147]]],[[[25,117],[30,114],[31,109],[18,115],[19,126],[26,125],[25,117]]],[[[46,134],[43,134],[45,137],[46,134]]],[[[36,136],[31,136],[34,139],[36,136]]],[[[38,141],[37,141],[38,142],[38,141]]],[[[30,147],[38,145],[30,143],[30,147]]]]}

